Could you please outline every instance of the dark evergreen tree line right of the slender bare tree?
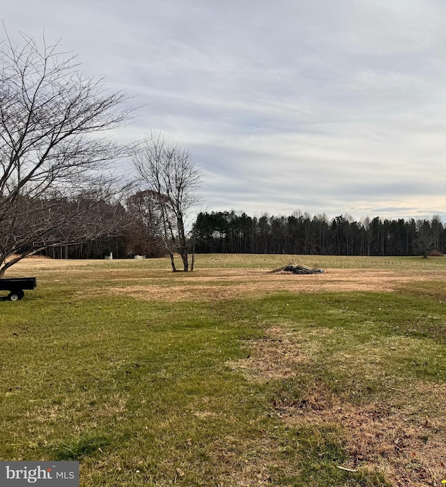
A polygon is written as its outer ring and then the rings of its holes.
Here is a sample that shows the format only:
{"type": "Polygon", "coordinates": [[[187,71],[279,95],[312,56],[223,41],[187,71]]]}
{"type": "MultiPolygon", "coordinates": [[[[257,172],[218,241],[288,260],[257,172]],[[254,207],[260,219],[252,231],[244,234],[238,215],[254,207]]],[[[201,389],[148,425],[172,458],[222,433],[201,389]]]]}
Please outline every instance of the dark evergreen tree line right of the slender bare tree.
{"type": "Polygon", "coordinates": [[[194,224],[197,253],[309,255],[424,255],[443,253],[446,226],[430,220],[328,218],[297,211],[259,218],[235,211],[199,213],[194,224]]]}

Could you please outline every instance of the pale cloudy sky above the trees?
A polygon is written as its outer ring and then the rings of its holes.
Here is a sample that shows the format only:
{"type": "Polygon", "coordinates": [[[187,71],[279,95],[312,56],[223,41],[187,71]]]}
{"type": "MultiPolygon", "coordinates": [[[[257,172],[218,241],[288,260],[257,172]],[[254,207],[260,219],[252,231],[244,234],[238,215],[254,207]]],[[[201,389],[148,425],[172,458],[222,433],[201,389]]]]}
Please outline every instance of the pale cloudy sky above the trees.
{"type": "Polygon", "coordinates": [[[0,17],[132,96],[123,142],[190,149],[203,211],[446,221],[444,0],[22,0],[0,17]]]}

